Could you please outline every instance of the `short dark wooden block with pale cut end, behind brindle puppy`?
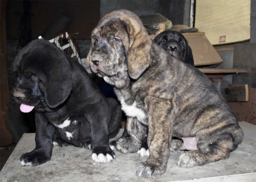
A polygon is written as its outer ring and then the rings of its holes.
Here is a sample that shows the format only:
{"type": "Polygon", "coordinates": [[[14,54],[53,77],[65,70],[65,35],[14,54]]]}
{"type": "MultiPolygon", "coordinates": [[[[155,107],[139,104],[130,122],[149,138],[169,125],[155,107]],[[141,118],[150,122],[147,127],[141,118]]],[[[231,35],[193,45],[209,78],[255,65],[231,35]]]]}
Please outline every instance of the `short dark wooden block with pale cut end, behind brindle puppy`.
{"type": "Polygon", "coordinates": [[[248,102],[248,85],[239,85],[221,89],[221,94],[227,102],[248,102]]]}

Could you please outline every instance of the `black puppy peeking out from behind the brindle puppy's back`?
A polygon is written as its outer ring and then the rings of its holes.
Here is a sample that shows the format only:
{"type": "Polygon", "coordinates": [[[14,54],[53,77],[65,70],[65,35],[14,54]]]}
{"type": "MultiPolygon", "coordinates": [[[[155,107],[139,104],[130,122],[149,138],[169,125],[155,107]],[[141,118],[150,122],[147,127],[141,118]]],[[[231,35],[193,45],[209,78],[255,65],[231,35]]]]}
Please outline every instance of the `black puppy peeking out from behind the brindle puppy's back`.
{"type": "Polygon", "coordinates": [[[177,31],[163,31],[154,42],[178,60],[194,66],[192,50],[186,38],[177,31]]]}

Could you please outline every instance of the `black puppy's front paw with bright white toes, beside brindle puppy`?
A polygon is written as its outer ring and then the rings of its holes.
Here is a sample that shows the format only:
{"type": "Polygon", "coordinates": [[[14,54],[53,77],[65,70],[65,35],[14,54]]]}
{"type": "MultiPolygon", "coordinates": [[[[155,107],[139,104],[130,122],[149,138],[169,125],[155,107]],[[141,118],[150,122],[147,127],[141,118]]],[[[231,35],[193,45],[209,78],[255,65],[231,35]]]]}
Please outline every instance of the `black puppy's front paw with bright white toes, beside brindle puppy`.
{"type": "Polygon", "coordinates": [[[97,146],[93,147],[92,159],[95,162],[107,163],[112,162],[113,159],[116,159],[116,155],[108,145],[97,146]]]}

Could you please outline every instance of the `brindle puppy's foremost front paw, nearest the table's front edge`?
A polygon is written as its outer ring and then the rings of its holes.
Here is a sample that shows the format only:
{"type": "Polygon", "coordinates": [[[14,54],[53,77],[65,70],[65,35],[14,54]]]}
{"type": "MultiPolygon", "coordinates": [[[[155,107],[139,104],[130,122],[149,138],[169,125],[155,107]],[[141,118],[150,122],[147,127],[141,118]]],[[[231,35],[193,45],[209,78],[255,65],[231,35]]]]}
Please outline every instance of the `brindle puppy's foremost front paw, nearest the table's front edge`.
{"type": "Polygon", "coordinates": [[[156,165],[146,164],[146,162],[140,162],[140,165],[136,171],[136,176],[143,178],[158,178],[163,174],[166,169],[161,169],[156,165]]]}

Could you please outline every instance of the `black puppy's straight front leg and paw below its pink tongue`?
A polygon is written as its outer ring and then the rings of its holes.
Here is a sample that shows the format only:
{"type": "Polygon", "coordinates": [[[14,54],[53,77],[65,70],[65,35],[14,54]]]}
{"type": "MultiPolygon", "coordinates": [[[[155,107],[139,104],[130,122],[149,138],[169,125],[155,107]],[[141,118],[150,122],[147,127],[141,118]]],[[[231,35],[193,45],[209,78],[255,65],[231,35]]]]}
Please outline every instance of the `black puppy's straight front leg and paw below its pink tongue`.
{"type": "Polygon", "coordinates": [[[55,133],[55,126],[47,121],[41,113],[35,113],[35,149],[23,154],[19,164],[22,166],[36,166],[51,159],[52,139],[55,133]]]}

